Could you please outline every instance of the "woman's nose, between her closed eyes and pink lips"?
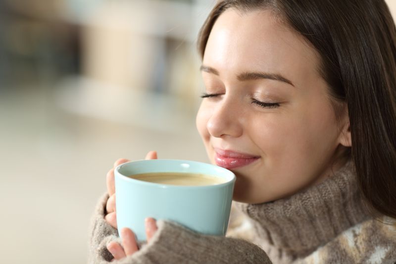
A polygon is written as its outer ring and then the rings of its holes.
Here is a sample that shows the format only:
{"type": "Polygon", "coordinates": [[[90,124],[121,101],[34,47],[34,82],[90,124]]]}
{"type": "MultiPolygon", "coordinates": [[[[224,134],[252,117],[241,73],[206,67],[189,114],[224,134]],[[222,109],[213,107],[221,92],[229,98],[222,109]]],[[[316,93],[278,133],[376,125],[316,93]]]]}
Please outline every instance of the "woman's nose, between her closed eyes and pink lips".
{"type": "Polygon", "coordinates": [[[238,107],[238,102],[225,99],[219,102],[206,123],[209,134],[216,138],[240,137],[243,134],[243,112],[238,107]]]}

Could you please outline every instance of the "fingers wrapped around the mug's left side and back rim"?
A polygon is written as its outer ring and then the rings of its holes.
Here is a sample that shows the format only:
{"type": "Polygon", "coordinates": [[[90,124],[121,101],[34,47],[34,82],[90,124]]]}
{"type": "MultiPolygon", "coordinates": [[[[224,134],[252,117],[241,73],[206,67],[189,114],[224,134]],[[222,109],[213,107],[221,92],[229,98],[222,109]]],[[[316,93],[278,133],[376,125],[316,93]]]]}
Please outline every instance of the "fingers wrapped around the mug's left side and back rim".
{"type": "MultiPolygon", "coordinates": [[[[156,159],[157,153],[155,151],[150,151],[146,155],[146,159],[156,159]]],[[[104,215],[104,219],[114,228],[117,228],[117,216],[115,210],[115,184],[114,184],[114,168],[120,164],[130,161],[126,158],[120,158],[115,161],[113,168],[107,172],[106,176],[106,185],[107,185],[107,193],[108,200],[106,203],[106,214],[104,215]]]]}

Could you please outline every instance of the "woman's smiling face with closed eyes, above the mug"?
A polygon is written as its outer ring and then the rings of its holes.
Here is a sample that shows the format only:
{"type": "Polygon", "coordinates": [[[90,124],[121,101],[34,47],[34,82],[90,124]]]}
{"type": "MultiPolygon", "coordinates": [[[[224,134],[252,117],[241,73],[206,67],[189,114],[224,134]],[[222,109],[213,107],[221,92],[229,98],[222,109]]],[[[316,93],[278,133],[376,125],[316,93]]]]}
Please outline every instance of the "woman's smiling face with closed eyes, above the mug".
{"type": "Polygon", "coordinates": [[[317,53],[270,11],[231,8],[215,22],[197,127],[211,162],[237,175],[234,200],[273,201],[331,173],[345,136],[318,68],[317,53]]]}

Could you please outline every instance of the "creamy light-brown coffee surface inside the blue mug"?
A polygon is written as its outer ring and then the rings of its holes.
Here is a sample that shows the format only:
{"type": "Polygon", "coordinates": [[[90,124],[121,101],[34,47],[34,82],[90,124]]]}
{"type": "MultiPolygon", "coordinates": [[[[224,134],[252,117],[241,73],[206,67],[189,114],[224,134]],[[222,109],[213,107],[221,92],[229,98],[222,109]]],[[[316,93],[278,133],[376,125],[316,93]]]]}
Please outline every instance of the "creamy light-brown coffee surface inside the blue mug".
{"type": "Polygon", "coordinates": [[[141,181],[181,186],[207,186],[226,182],[226,180],[216,176],[184,172],[142,173],[130,175],[128,177],[141,181]]]}

